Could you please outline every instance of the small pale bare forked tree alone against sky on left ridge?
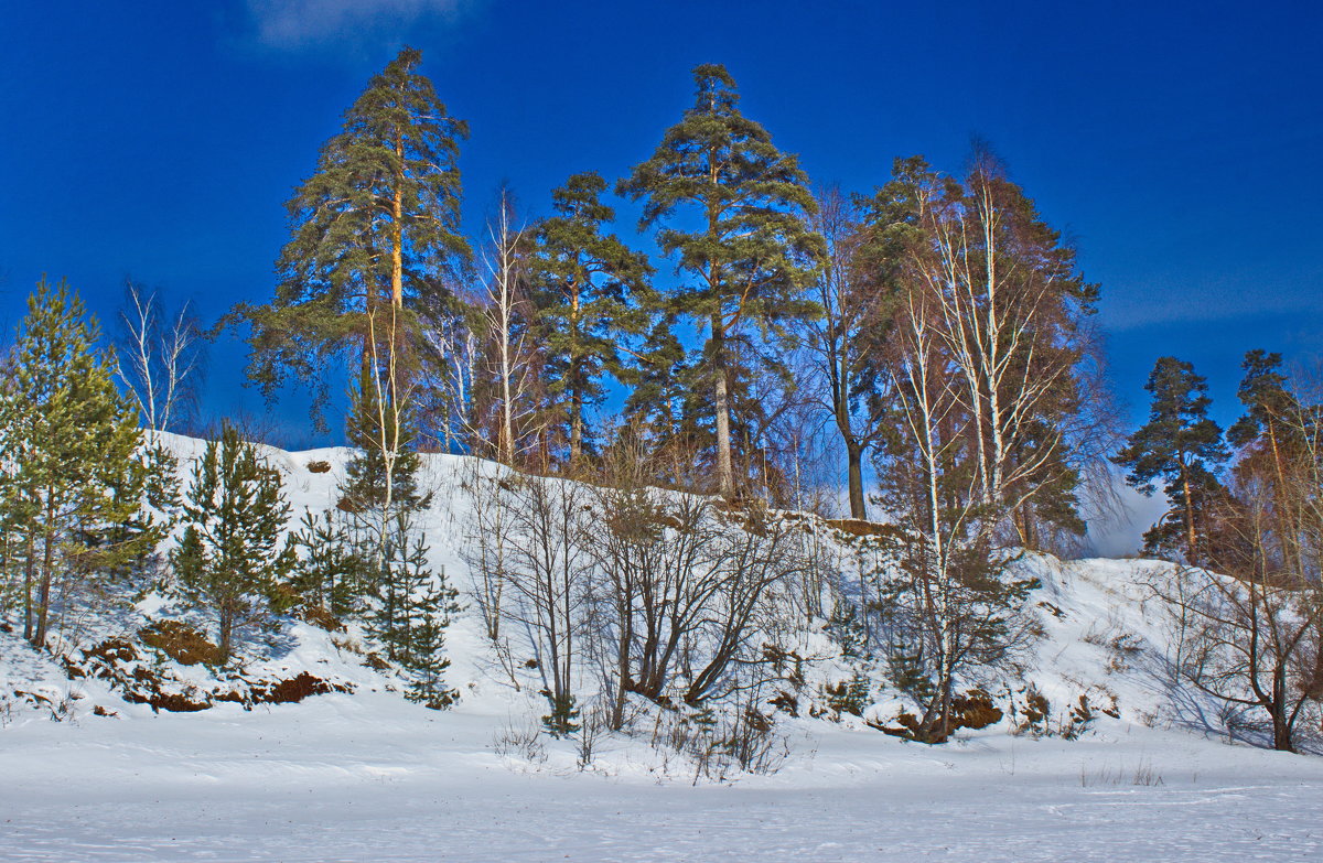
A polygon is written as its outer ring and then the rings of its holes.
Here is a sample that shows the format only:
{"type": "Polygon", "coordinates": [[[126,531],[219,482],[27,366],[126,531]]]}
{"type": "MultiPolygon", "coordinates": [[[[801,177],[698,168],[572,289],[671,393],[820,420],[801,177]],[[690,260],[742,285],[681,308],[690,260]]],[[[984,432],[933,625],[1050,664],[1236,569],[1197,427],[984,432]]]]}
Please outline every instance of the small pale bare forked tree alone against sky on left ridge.
{"type": "Polygon", "coordinates": [[[185,302],[168,312],[160,295],[126,281],[119,311],[118,376],[134,393],[143,425],[165,432],[194,406],[202,373],[202,332],[185,302]]]}

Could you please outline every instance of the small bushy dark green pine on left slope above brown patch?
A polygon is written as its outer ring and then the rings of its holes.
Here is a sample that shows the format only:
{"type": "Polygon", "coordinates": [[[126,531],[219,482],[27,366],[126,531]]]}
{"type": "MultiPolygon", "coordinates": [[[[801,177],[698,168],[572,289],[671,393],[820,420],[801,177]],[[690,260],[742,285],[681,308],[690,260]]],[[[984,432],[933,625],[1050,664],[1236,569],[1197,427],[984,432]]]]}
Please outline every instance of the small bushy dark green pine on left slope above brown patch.
{"type": "Polygon", "coordinates": [[[280,473],[226,422],[193,463],[184,537],[171,555],[185,593],[216,615],[224,659],[235,633],[266,617],[271,589],[290,570],[280,543],[288,516],[280,473]]]}

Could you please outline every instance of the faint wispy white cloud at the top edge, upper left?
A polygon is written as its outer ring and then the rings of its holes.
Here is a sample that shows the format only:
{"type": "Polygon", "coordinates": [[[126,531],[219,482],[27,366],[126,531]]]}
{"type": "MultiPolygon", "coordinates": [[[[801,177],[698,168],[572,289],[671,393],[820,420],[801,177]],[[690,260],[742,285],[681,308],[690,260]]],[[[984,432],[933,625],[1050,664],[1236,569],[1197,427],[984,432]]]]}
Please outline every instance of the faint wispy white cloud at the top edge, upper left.
{"type": "Polygon", "coordinates": [[[419,26],[448,24],[472,0],[247,0],[254,40],[300,50],[397,40],[419,26]]]}

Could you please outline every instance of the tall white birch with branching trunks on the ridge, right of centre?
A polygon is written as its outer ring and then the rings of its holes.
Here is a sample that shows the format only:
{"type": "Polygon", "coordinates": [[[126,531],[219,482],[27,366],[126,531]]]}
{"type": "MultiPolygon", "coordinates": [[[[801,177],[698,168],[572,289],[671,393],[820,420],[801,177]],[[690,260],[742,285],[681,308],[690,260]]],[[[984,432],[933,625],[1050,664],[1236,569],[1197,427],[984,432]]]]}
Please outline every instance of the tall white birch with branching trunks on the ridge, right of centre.
{"type": "Polygon", "coordinates": [[[1076,488],[1097,451],[1081,446],[1074,420],[1088,398],[1081,380],[1098,287],[1078,273],[1073,250],[979,150],[959,181],[922,159],[897,160],[869,218],[892,245],[888,265],[904,266],[904,290],[929,296],[934,348],[970,417],[978,496],[1020,544],[1033,544],[1036,515],[1082,529],[1076,488]]]}

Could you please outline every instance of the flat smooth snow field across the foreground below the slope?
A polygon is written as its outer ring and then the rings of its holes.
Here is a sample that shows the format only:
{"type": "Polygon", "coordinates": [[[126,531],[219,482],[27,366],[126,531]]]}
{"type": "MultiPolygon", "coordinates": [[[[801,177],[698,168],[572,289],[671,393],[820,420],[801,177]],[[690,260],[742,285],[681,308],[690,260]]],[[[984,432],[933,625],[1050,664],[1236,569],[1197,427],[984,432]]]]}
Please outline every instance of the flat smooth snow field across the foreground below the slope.
{"type": "Polygon", "coordinates": [[[369,694],[28,724],[0,737],[0,858],[1323,859],[1318,761],[1180,732],[925,748],[816,728],[775,776],[691,788],[512,770],[487,748],[503,721],[369,694]]]}

